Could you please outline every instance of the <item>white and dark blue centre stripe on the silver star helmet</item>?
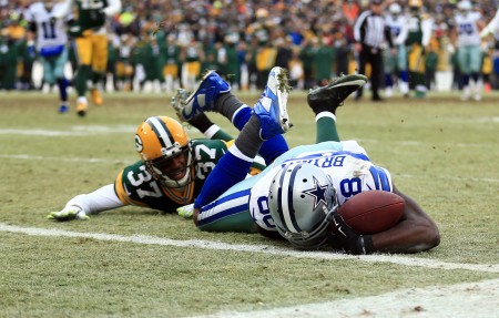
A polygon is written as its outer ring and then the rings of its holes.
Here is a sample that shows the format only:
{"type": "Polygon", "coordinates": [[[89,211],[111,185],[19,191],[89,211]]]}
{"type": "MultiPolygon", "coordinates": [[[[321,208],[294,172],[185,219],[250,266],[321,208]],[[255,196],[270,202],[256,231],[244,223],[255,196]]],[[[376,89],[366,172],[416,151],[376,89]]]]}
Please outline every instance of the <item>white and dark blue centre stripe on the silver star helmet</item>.
{"type": "Polygon", "coordinates": [[[299,233],[302,229],[298,226],[295,217],[295,208],[293,205],[293,184],[295,181],[296,173],[302,167],[302,164],[293,167],[291,176],[286,177],[286,172],[288,167],[283,168],[283,173],[279,178],[279,189],[277,197],[277,211],[281,216],[281,220],[286,229],[293,233],[299,233]],[[286,191],[287,189],[287,191],[286,191]]]}

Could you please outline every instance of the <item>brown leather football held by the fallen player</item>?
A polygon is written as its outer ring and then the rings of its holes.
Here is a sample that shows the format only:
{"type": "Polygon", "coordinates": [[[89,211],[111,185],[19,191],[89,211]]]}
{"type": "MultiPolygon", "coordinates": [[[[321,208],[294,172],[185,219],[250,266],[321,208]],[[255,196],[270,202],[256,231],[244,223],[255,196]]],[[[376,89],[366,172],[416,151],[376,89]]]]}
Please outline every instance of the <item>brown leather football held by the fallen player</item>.
{"type": "Polygon", "coordinates": [[[345,202],[338,213],[358,234],[375,234],[397,224],[405,205],[404,198],[395,193],[367,191],[345,202]]]}

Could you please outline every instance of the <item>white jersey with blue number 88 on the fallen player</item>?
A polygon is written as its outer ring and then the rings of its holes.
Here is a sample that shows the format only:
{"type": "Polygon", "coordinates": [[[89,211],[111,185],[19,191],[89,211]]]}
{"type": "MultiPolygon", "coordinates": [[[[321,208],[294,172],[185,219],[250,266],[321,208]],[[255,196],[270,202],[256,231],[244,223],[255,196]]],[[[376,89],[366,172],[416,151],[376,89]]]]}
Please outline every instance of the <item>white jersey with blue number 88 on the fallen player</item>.
{"type": "Polygon", "coordinates": [[[268,189],[274,176],[288,163],[310,163],[322,167],[333,179],[339,205],[361,192],[380,189],[393,192],[391,177],[386,168],[374,165],[366,151],[356,142],[342,142],[343,150],[316,150],[288,158],[266,173],[251,189],[249,213],[264,229],[276,230],[268,209],[268,189]]]}

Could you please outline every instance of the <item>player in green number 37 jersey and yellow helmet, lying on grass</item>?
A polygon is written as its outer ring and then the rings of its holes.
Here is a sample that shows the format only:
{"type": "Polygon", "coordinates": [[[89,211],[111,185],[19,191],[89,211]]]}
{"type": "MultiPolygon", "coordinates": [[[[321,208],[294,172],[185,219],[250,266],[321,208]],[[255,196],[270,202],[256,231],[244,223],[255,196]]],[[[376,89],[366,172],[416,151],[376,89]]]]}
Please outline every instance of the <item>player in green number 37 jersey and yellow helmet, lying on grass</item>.
{"type": "MultiPolygon", "coordinates": [[[[195,90],[202,92],[208,83],[211,98],[225,94],[224,104],[249,107],[232,93],[230,85],[213,72],[195,90]]],[[[180,92],[187,94],[187,92],[180,92]]],[[[189,123],[208,139],[189,140],[183,126],[167,116],[151,116],[141,123],[135,134],[135,150],[141,161],[124,167],[114,184],[105,185],[90,194],[71,198],[62,211],[52,212],[49,219],[89,219],[89,215],[126,205],[144,206],[163,212],[191,204],[207,175],[227,152],[232,137],[201,113],[189,123]]],[[[285,145],[287,147],[287,144],[285,145]]],[[[248,174],[256,174],[265,167],[255,162],[248,174]]],[[[179,211],[184,217],[191,211],[179,211]]]]}

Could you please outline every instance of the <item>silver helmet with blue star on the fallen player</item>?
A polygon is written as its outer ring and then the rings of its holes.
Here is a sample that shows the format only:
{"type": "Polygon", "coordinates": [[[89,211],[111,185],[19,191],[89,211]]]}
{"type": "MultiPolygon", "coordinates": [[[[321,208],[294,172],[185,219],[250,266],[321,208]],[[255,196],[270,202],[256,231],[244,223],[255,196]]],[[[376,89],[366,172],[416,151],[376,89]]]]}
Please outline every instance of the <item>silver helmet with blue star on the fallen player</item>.
{"type": "Polygon", "coordinates": [[[296,247],[317,249],[327,243],[328,216],[338,208],[338,198],[322,168],[308,163],[284,166],[272,181],[268,204],[277,232],[296,247]]]}

